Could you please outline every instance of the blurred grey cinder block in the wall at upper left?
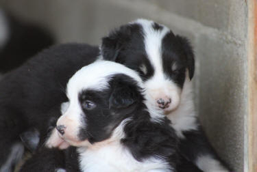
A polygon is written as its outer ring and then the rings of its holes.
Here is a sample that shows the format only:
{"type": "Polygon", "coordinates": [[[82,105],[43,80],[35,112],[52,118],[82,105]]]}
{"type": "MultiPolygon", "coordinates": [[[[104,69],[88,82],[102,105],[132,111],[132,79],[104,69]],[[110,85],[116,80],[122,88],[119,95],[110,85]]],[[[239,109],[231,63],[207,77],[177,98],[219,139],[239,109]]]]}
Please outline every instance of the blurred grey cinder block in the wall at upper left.
{"type": "Polygon", "coordinates": [[[33,1],[5,5],[23,20],[36,21],[56,35],[58,42],[99,44],[110,29],[138,17],[147,17],[112,1],[33,1]]]}

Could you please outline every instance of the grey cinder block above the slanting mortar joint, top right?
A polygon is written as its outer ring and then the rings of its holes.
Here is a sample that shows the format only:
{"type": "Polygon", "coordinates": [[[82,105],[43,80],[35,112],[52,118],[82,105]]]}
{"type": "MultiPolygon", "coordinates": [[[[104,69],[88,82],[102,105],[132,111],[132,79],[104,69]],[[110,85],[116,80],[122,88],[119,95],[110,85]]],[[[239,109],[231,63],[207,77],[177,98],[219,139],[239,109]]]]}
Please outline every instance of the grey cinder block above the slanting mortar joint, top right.
{"type": "MultiPolygon", "coordinates": [[[[144,0],[145,1],[145,0],[144,0]]],[[[208,27],[228,29],[230,3],[232,0],[151,0],[169,12],[199,21],[208,27]]]]}

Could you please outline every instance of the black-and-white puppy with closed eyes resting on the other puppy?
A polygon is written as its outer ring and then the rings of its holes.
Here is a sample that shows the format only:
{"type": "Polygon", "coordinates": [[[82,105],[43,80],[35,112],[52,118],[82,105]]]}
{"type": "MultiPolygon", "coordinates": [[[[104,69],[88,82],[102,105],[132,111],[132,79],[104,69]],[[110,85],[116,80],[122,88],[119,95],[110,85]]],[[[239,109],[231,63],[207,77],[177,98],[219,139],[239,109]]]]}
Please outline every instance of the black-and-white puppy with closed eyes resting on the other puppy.
{"type": "Polygon", "coordinates": [[[172,121],[187,160],[202,171],[228,171],[208,143],[195,113],[194,55],[186,38],[164,25],[138,19],[103,38],[101,55],[140,74],[150,95],[148,101],[172,121]]]}

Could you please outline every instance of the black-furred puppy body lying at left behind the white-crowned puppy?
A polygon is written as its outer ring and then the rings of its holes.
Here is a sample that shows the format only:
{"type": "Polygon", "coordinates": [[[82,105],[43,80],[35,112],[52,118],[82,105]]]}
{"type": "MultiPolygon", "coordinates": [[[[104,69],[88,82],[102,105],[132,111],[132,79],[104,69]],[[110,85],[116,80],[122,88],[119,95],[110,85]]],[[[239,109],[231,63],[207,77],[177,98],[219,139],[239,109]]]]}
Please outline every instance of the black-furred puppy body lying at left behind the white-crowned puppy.
{"type": "MultiPolygon", "coordinates": [[[[60,104],[67,101],[64,88],[69,78],[93,63],[98,55],[97,46],[53,46],[3,76],[0,81],[1,172],[13,171],[23,155],[21,139],[31,144],[24,139],[32,128],[38,130],[40,143],[45,141],[49,126],[54,126],[61,115],[60,104]]],[[[37,137],[36,133],[32,135],[37,137]]]]}

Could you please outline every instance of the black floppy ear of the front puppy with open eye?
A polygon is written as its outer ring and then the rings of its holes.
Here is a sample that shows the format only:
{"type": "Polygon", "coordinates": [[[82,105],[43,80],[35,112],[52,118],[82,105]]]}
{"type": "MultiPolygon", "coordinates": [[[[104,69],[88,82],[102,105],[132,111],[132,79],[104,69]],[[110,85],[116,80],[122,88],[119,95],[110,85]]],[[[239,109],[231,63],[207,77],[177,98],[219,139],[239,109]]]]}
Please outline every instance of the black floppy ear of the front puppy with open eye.
{"type": "Polygon", "coordinates": [[[133,85],[127,83],[114,83],[112,94],[109,98],[109,109],[125,114],[136,109],[139,92],[133,85]]]}

